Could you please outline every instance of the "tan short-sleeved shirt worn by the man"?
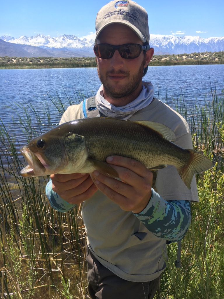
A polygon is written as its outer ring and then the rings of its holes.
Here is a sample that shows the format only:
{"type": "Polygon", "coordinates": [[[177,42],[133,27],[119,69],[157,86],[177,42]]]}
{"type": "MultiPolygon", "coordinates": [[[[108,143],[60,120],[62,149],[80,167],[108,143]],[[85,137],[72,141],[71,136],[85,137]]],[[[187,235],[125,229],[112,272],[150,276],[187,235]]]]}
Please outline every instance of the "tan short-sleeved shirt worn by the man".
{"type": "MultiPolygon", "coordinates": [[[[67,108],[60,124],[80,118],[80,105],[73,105],[67,108]]],[[[130,120],[163,123],[174,131],[175,144],[192,148],[191,133],[184,118],[156,98],[130,120]]],[[[154,189],[163,199],[198,201],[195,177],[189,190],[174,166],[158,170],[154,179],[154,189]]],[[[156,237],[140,222],[139,231],[147,233],[140,241],[132,235],[136,221],[134,214],[123,211],[99,190],[85,200],[82,218],[90,250],[100,263],[119,277],[136,282],[151,281],[165,269],[166,240],[156,237]]]]}

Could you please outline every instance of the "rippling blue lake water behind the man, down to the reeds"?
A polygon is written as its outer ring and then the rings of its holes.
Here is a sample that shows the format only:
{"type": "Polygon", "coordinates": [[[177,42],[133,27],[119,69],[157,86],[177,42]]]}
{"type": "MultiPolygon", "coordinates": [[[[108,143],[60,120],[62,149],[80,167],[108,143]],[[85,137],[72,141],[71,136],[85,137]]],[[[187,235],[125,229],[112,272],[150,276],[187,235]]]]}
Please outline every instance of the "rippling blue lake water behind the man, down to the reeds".
{"type": "MultiPolygon", "coordinates": [[[[154,95],[170,106],[173,105],[173,99],[180,99],[183,95],[185,104],[194,106],[196,99],[199,104],[204,103],[205,98],[212,100],[211,86],[212,89],[216,87],[221,94],[224,87],[224,65],[149,67],[144,80],[152,82],[154,95]]],[[[18,114],[26,119],[22,107],[32,105],[38,111],[45,131],[58,124],[60,119],[49,95],[57,97],[58,94],[62,103],[68,106],[68,98],[74,100],[79,91],[86,97],[96,94],[100,85],[96,68],[0,70],[0,119],[8,127],[9,123],[18,122],[18,114]],[[50,120],[47,118],[47,110],[51,114],[50,120]]],[[[31,113],[33,126],[37,125],[36,118],[31,113]]],[[[18,130],[16,126],[16,134],[20,140],[22,136],[19,126],[18,130]]]]}

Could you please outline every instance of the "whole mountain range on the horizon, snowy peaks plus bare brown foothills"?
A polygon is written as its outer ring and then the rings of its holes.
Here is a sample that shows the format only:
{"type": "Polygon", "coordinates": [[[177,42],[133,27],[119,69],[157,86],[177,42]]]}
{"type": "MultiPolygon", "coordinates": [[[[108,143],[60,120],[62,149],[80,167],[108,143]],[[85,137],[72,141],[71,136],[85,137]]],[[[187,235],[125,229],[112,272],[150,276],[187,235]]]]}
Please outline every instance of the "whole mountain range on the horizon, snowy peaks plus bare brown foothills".
{"type": "MultiPolygon", "coordinates": [[[[58,37],[37,34],[27,37],[0,37],[0,56],[9,57],[93,57],[95,33],[77,37],[63,34],[58,37]]],[[[200,36],[150,35],[150,45],[155,55],[193,52],[224,51],[224,36],[201,38],[200,36]]]]}

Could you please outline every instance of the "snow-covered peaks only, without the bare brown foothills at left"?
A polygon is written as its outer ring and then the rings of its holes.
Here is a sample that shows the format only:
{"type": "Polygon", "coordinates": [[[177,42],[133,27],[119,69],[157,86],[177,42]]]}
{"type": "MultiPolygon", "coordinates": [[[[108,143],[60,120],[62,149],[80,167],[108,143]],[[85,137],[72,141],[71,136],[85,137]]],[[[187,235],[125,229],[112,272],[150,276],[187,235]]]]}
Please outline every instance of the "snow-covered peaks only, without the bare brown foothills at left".
{"type": "MultiPolygon", "coordinates": [[[[95,33],[90,33],[87,36],[77,37],[75,35],[63,34],[58,37],[51,37],[49,35],[37,34],[36,36],[20,36],[19,38],[11,36],[1,36],[0,39],[19,45],[30,45],[44,48],[56,56],[60,50],[69,51],[69,53],[76,52],[78,56],[94,56],[93,44],[95,40],[95,33]]],[[[206,52],[206,51],[224,51],[224,37],[210,37],[203,39],[200,36],[174,36],[174,35],[150,35],[150,45],[154,48],[155,54],[169,53],[169,54],[183,54],[192,52],[206,52]]],[[[68,57],[68,53],[66,57],[68,57]]],[[[71,56],[74,56],[71,54],[71,56]]]]}

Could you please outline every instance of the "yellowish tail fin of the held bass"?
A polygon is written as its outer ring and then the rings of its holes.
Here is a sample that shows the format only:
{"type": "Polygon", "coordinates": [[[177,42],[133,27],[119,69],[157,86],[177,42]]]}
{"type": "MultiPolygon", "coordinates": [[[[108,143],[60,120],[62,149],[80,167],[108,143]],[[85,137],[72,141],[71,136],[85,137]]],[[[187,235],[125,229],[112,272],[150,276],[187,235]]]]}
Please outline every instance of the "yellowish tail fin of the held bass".
{"type": "Polygon", "coordinates": [[[191,181],[194,174],[208,170],[213,166],[213,164],[207,157],[203,156],[199,152],[195,152],[193,149],[187,150],[190,151],[191,154],[190,164],[178,169],[177,171],[188,189],[191,189],[191,181]]]}

